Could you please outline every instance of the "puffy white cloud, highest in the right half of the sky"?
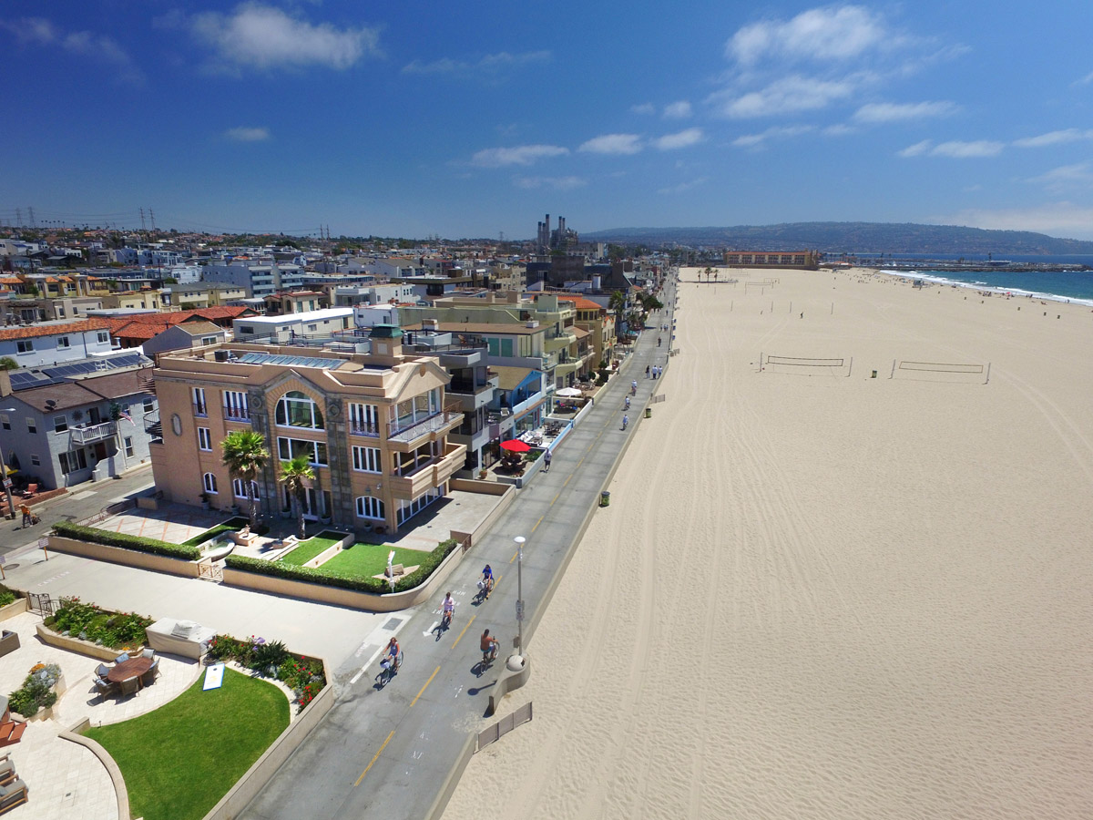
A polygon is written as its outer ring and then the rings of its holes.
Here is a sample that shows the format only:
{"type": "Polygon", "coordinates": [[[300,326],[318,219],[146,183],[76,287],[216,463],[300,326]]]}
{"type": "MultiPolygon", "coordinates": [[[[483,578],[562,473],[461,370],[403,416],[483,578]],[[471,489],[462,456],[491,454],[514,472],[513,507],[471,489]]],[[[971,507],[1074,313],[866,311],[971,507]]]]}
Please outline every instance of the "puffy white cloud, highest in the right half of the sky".
{"type": "Polygon", "coordinates": [[[789,21],[744,26],[729,39],[726,55],[742,66],[764,58],[850,60],[893,36],[879,16],[860,5],[810,9],[789,21]]]}

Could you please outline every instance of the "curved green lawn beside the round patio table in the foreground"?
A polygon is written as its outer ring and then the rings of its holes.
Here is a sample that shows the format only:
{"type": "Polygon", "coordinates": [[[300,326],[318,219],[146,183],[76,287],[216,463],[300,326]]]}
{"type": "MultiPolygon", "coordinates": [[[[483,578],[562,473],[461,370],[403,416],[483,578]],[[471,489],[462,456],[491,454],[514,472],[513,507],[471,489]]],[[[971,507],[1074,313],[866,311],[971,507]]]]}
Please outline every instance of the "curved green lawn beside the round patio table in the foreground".
{"type": "Polygon", "coordinates": [[[224,670],[220,689],[202,675],[178,698],[131,721],[89,729],[110,753],[145,820],[200,820],[289,725],[289,699],[271,683],[224,670]]]}

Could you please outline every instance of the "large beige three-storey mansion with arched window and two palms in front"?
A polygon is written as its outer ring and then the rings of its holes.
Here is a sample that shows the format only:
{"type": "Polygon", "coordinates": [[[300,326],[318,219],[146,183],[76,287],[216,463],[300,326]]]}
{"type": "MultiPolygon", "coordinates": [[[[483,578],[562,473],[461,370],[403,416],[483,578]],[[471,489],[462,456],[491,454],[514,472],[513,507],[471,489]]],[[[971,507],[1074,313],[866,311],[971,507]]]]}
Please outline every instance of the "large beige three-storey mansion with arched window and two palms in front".
{"type": "Polygon", "coordinates": [[[236,430],[266,436],[256,482],[262,513],[289,509],[281,464],[315,467],[306,517],[354,531],[397,530],[447,493],[467,447],[448,433],[463,414],[445,406],[450,376],[435,358],[403,355],[402,331],[377,326],[372,353],[226,343],[161,354],[155,368],[162,440],[150,450],[168,501],[246,509],[246,488],[221,464],[236,430]]]}

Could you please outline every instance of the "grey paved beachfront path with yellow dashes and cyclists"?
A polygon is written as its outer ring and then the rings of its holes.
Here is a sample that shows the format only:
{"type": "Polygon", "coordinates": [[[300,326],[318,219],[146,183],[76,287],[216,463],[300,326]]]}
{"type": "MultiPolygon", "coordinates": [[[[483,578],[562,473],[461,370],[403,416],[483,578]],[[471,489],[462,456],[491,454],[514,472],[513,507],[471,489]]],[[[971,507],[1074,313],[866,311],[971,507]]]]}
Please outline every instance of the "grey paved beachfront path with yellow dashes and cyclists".
{"type": "MultiPolygon", "coordinates": [[[[669,285],[666,300],[673,297],[669,285]]],[[[670,325],[666,313],[653,321],[670,325]]],[[[550,472],[519,491],[517,503],[457,567],[447,587],[458,602],[451,626],[445,632],[436,629],[442,591],[428,605],[397,613],[373,632],[359,649],[360,668],[343,667],[337,675],[339,681],[349,681],[337,705],[242,818],[428,816],[468,736],[482,726],[490,688],[516,635],[513,539],[527,538],[522,561],[527,644],[545,610],[552,582],[564,570],[628,437],[639,432],[642,409],[659,384],[644,378],[646,364],[663,365],[668,358],[668,333],[661,348],[658,335],[658,330],[642,335],[624,373],[560,444],[550,472]],[[623,432],[623,400],[632,379],[637,380],[637,397],[632,399],[630,427],[623,432]],[[475,583],[486,562],[500,575],[498,583],[489,601],[475,605],[475,583]],[[502,659],[483,673],[478,667],[479,636],[486,628],[502,640],[503,648],[502,659]],[[380,688],[374,679],[375,656],[391,634],[398,635],[406,661],[380,688]]]]}

